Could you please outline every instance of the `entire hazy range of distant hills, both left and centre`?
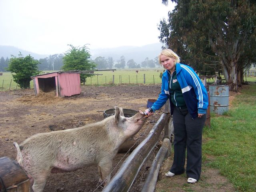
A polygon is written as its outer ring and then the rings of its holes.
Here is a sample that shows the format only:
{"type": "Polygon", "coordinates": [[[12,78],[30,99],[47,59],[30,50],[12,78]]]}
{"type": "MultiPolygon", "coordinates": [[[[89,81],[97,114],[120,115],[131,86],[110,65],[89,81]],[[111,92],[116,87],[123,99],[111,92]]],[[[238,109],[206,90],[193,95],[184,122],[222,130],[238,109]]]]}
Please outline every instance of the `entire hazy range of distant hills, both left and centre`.
{"type": "MultiPolygon", "coordinates": [[[[90,48],[90,47],[89,47],[90,48]]],[[[92,60],[98,56],[112,57],[114,61],[120,60],[121,56],[125,57],[126,62],[130,59],[133,59],[137,64],[143,62],[147,57],[149,59],[154,59],[158,56],[159,52],[162,50],[161,43],[148,44],[145,46],[121,46],[116,48],[106,48],[106,49],[90,49],[92,55],[92,60]]],[[[11,55],[18,56],[19,53],[22,53],[23,56],[30,54],[35,59],[39,60],[40,58],[46,58],[49,55],[41,55],[34,52],[22,50],[14,46],[3,46],[0,45],[0,58],[8,57],[11,58],[11,55]]],[[[53,53],[56,54],[56,53],[53,53]]],[[[52,54],[52,55],[53,55],[52,54]]]]}

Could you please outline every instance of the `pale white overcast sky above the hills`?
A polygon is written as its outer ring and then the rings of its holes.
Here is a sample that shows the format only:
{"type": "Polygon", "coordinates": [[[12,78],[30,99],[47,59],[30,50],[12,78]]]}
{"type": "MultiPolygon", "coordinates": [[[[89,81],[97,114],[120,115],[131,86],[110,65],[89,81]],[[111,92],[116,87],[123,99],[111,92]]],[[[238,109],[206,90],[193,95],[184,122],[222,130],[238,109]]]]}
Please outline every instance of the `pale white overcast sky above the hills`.
{"type": "Polygon", "coordinates": [[[159,42],[162,0],[0,0],[0,45],[38,54],[159,42]]]}

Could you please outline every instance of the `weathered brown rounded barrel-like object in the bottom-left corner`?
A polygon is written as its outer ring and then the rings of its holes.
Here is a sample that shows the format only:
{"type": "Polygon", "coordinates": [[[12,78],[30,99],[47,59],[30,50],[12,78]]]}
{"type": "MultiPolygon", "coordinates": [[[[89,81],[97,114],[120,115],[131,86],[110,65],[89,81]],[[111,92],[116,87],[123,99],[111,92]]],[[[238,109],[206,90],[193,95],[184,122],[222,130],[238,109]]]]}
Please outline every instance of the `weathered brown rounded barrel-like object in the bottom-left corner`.
{"type": "Polygon", "coordinates": [[[29,178],[18,162],[8,157],[0,158],[0,191],[30,192],[29,178]]]}

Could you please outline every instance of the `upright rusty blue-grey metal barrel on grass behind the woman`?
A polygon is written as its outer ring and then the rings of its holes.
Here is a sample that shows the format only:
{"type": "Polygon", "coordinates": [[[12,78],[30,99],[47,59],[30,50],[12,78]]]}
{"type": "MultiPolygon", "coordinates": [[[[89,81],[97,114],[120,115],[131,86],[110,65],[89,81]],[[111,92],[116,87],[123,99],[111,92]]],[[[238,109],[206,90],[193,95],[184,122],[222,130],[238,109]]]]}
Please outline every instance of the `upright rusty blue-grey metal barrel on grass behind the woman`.
{"type": "Polygon", "coordinates": [[[229,103],[229,86],[213,85],[209,86],[210,92],[210,111],[222,115],[228,111],[229,103]]]}

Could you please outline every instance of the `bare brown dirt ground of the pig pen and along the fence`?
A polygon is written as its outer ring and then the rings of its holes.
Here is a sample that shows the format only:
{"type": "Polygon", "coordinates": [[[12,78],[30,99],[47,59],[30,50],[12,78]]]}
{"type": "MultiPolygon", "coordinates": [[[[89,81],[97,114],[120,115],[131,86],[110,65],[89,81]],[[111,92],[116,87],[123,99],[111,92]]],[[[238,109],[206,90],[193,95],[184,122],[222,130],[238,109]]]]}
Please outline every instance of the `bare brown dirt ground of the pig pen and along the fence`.
{"type": "MultiPolygon", "coordinates": [[[[54,92],[35,96],[34,89],[0,92],[0,157],[16,159],[13,142],[22,142],[36,133],[76,128],[100,121],[103,111],[119,106],[126,109],[145,110],[148,99],[158,97],[161,85],[119,85],[82,86],[82,94],[71,97],[56,97],[54,92]]],[[[157,122],[162,111],[148,118],[142,130],[134,137],[143,140],[157,122]]],[[[118,153],[113,162],[112,176],[125,160],[125,153],[118,153]],[[124,157],[124,158],[123,158],[124,157]],[[123,159],[122,159],[123,158],[123,159]],[[122,159],[122,160],[121,160],[122,159]],[[121,162],[119,162],[121,160],[121,162]]],[[[151,157],[153,158],[154,155],[151,157]]],[[[166,184],[157,185],[155,191],[183,192],[186,176],[166,178],[172,163],[172,156],[164,161],[159,175],[166,184]]],[[[150,162],[146,162],[130,191],[140,191],[150,162]]],[[[44,192],[98,192],[96,188],[99,175],[96,166],[69,173],[50,174],[44,192]]],[[[203,166],[202,181],[194,184],[193,191],[233,192],[234,188],[218,174],[217,170],[203,166]],[[202,186],[202,182],[204,185],[202,186]],[[201,184],[200,184],[201,183],[201,184]],[[213,187],[216,186],[216,187],[213,187]]]]}

